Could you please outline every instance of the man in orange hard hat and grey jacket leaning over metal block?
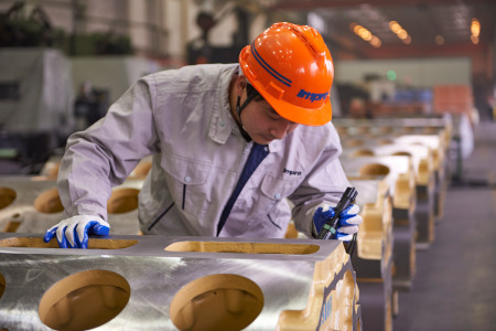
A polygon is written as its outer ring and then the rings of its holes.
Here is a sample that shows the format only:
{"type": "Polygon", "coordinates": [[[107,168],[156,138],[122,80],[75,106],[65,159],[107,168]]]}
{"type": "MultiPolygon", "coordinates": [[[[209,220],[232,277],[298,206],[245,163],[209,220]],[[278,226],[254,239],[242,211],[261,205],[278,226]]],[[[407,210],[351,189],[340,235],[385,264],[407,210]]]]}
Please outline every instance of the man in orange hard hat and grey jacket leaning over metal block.
{"type": "MultiPolygon", "coordinates": [[[[61,247],[85,248],[88,234],[108,234],[111,188],[149,154],[139,194],[143,234],[280,238],[292,218],[315,236],[349,185],[330,121],[333,74],[316,30],[276,23],[241,51],[239,64],[141,78],[67,140],[57,182],[66,218],[45,242],[56,236],[61,247]]],[[[358,211],[342,213],[339,239],[358,231],[358,211]]]]}

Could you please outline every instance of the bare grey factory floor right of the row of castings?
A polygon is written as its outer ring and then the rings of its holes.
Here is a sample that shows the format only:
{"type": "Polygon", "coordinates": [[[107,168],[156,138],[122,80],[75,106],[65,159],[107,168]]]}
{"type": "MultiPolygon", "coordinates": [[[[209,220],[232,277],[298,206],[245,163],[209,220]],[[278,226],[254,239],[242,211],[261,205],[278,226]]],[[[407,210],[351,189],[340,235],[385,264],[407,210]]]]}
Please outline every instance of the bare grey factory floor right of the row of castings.
{"type": "Polygon", "coordinates": [[[496,121],[482,121],[474,140],[461,180],[448,189],[434,242],[417,250],[413,286],[399,293],[395,331],[496,330],[496,121]]]}

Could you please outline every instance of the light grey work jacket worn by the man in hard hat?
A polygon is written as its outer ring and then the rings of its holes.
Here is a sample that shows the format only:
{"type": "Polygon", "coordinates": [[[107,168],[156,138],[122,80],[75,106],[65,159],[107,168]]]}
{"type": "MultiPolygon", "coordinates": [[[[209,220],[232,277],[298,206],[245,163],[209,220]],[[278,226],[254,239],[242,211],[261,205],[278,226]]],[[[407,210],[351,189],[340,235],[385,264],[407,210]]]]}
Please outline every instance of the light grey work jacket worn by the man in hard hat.
{"type": "MultiPolygon", "coordinates": [[[[228,103],[238,71],[237,64],[207,64],[148,75],[105,118],[72,135],[58,175],[66,216],[107,220],[111,188],[153,154],[139,194],[141,231],[216,236],[252,146],[242,138],[228,103]]],[[[268,148],[219,236],[283,237],[291,217],[310,236],[313,210],[323,202],[336,205],[349,185],[331,122],[299,126],[268,148]]]]}

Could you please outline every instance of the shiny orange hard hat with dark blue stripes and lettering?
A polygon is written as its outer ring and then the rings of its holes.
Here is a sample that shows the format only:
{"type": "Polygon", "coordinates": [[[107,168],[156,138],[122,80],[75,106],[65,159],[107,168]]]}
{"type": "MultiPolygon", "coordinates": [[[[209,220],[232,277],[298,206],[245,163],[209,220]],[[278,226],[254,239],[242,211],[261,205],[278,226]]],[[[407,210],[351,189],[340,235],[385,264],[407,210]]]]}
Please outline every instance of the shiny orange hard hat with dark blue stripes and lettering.
{"type": "Polygon", "coordinates": [[[331,120],[333,60],[314,28],[274,23],[242,49],[239,64],[280,116],[308,126],[331,120]]]}

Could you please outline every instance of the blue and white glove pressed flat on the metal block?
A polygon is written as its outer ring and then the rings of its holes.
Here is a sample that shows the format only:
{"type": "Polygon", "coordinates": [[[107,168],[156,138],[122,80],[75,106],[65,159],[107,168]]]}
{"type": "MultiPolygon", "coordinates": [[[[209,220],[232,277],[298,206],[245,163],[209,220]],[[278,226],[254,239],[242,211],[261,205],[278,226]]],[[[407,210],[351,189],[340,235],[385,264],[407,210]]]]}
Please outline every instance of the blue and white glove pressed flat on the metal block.
{"type": "Polygon", "coordinates": [[[61,248],[88,248],[88,234],[108,235],[110,225],[98,216],[77,215],[48,228],[43,237],[48,243],[56,234],[61,248]]]}

